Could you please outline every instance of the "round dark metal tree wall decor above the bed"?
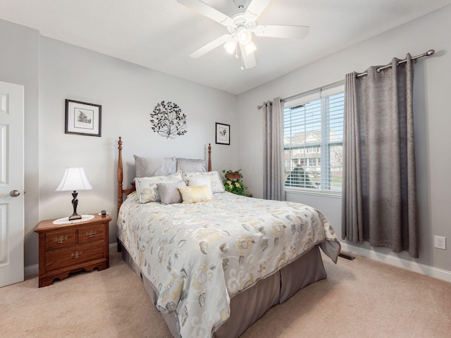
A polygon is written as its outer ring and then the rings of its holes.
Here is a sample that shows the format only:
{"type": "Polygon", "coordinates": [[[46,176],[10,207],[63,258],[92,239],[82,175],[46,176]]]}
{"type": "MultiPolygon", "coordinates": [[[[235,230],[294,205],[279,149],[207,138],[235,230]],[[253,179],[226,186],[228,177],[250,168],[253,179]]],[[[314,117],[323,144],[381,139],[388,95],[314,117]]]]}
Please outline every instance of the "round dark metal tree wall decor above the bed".
{"type": "Polygon", "coordinates": [[[186,134],[186,115],[173,102],[161,101],[150,113],[152,130],[166,139],[186,134]]]}

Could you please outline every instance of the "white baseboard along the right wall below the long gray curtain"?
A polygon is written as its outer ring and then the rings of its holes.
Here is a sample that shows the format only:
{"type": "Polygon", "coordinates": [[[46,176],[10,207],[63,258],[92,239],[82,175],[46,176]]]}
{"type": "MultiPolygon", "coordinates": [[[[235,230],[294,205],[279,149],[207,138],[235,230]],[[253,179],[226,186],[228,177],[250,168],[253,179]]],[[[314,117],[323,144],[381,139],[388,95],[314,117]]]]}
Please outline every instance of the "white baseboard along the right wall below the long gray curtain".
{"type": "Polygon", "coordinates": [[[344,242],[340,242],[340,244],[342,251],[345,251],[347,253],[354,253],[355,255],[370,258],[374,261],[396,266],[397,268],[409,270],[414,273],[421,273],[421,275],[438,278],[439,280],[444,280],[445,282],[451,282],[451,271],[435,268],[433,266],[421,263],[416,263],[414,261],[407,261],[407,259],[386,255],[385,253],[371,251],[364,248],[359,248],[358,246],[351,246],[344,242]]]}

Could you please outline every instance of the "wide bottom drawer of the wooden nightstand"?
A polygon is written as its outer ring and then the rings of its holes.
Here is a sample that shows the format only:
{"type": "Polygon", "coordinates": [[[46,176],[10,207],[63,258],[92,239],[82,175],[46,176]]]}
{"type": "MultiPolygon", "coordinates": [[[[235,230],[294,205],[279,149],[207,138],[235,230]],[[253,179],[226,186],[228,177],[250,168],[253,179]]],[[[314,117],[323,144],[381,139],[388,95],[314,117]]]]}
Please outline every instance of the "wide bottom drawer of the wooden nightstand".
{"type": "Polygon", "coordinates": [[[104,257],[104,241],[78,244],[64,249],[47,251],[46,270],[66,268],[70,265],[92,261],[104,257]]]}

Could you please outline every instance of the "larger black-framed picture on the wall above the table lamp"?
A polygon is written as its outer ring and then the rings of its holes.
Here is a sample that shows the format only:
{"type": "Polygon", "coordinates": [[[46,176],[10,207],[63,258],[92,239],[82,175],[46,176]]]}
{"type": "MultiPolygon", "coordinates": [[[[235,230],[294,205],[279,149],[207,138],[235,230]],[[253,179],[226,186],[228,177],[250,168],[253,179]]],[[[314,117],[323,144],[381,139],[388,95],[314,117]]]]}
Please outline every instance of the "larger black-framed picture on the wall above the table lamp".
{"type": "Polygon", "coordinates": [[[101,106],[66,99],[66,134],[101,136],[101,106]]]}

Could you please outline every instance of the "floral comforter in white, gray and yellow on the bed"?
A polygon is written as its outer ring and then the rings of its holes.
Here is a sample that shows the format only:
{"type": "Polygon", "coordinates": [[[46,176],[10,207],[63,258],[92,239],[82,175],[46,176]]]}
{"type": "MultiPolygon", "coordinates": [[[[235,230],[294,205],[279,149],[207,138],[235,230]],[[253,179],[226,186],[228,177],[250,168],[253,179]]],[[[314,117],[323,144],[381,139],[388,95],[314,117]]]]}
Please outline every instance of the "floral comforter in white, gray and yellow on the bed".
{"type": "Polygon", "coordinates": [[[118,236],[153,284],[159,311],[175,311],[181,337],[211,337],[227,320],[230,296],[321,243],[336,262],[328,220],[304,204],[224,192],[197,204],[140,204],[131,194],[118,236]]]}

